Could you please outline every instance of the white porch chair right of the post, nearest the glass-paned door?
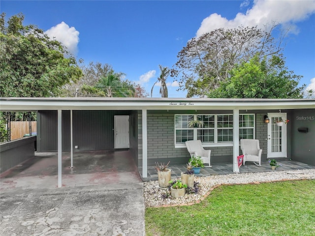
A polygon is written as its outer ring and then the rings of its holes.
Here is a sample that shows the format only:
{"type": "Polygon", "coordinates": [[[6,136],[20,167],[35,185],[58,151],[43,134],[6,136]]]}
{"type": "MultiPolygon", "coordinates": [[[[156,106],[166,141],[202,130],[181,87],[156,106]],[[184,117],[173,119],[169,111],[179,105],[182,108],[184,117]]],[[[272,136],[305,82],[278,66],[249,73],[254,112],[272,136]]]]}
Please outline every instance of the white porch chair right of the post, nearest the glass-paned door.
{"type": "Polygon", "coordinates": [[[262,149],[259,148],[259,140],[241,139],[241,150],[244,154],[243,165],[246,161],[252,161],[256,166],[261,166],[262,149]]]}

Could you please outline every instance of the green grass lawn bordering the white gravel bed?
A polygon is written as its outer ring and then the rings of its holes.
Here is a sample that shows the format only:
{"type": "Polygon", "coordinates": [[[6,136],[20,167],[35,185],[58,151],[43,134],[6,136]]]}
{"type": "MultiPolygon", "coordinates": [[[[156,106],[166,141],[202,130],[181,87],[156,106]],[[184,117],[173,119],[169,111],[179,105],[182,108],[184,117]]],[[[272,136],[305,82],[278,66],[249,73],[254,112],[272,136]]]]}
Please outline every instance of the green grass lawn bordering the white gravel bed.
{"type": "Polygon", "coordinates": [[[200,204],[147,208],[147,236],[315,236],[315,180],[222,185],[200,204]]]}

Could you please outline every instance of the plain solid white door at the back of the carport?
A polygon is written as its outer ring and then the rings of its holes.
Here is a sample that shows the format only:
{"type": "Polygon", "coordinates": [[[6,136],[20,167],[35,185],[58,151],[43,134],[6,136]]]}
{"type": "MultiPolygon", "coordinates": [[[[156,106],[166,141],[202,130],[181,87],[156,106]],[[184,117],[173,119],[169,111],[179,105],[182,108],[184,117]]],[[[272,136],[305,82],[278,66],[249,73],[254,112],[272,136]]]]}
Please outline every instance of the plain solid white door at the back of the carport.
{"type": "Polygon", "coordinates": [[[115,116],[115,148],[129,148],[129,116],[115,116]]]}

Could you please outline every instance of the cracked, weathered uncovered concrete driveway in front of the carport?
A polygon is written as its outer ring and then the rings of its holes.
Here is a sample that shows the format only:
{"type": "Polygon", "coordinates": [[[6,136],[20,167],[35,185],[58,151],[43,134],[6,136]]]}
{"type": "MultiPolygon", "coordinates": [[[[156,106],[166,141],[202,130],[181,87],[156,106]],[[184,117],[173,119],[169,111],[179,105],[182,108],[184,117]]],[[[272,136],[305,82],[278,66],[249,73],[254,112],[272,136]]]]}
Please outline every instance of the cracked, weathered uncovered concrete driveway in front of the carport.
{"type": "Polygon", "coordinates": [[[144,236],[143,183],[1,191],[1,236],[144,236]]]}

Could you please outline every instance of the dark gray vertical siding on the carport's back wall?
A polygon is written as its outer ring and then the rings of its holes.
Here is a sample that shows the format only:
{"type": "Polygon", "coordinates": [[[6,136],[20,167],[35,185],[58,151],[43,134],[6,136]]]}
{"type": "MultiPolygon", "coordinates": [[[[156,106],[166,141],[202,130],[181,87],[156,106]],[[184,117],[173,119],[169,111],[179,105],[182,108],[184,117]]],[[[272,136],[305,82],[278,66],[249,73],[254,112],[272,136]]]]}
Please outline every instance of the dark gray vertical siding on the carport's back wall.
{"type": "MultiPolygon", "coordinates": [[[[73,148],[78,146],[78,149],[74,150],[114,149],[114,116],[130,115],[130,113],[130,111],[73,111],[73,148]]],[[[57,111],[39,111],[38,116],[40,120],[38,151],[56,151],[57,111]]],[[[70,111],[63,111],[62,129],[63,150],[70,150],[70,111]]]]}

